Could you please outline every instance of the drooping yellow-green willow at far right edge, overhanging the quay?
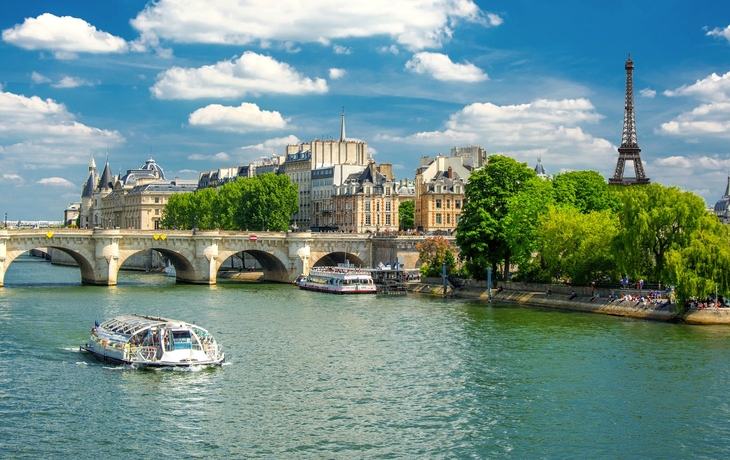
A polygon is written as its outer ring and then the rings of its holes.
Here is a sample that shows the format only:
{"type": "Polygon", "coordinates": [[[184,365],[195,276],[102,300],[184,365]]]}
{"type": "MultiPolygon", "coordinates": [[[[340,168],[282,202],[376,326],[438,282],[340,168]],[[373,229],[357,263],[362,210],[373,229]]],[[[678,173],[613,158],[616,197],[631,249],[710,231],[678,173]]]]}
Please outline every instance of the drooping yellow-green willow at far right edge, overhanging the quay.
{"type": "Polygon", "coordinates": [[[668,282],[676,287],[679,306],[692,296],[730,292],[730,235],[715,216],[705,214],[689,243],[666,253],[668,282]]]}

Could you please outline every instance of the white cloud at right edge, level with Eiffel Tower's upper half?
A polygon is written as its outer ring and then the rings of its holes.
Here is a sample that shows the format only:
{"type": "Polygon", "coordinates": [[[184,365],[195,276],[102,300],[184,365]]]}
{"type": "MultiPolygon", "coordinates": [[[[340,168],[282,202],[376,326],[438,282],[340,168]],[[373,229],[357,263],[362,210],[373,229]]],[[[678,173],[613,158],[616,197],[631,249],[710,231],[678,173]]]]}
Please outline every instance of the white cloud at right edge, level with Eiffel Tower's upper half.
{"type": "Polygon", "coordinates": [[[691,111],[679,114],[674,120],[662,123],[659,132],[679,136],[730,137],[730,72],[697,80],[664,91],[668,97],[691,96],[703,103],[691,111]]]}

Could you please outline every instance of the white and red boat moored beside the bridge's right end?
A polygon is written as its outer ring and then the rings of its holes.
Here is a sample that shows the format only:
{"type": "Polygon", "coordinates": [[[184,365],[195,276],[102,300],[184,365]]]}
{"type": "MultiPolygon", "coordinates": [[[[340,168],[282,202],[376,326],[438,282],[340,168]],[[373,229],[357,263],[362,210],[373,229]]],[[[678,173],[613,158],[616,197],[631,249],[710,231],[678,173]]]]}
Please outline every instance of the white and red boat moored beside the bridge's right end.
{"type": "Polygon", "coordinates": [[[299,281],[299,288],[333,294],[375,294],[377,288],[367,270],[352,267],[315,267],[299,281]]]}

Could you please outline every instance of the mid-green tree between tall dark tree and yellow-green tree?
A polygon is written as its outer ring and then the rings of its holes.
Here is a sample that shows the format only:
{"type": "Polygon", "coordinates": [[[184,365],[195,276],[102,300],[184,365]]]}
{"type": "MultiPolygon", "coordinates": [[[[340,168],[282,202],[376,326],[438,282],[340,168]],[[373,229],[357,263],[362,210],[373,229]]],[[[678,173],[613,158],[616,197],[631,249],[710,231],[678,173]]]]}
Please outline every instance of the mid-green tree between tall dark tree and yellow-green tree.
{"type": "Polygon", "coordinates": [[[513,263],[520,267],[520,271],[532,260],[540,216],[552,205],[552,183],[539,177],[527,180],[523,190],[507,200],[504,236],[513,263]]]}

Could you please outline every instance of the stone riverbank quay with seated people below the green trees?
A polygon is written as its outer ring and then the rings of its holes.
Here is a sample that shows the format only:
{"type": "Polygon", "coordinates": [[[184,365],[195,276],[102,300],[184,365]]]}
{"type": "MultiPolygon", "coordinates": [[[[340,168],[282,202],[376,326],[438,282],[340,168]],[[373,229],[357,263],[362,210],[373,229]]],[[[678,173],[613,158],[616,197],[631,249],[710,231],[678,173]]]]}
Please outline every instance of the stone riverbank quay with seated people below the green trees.
{"type": "MultiPolygon", "coordinates": [[[[408,290],[421,294],[444,295],[443,286],[439,284],[439,281],[438,279],[426,278],[421,283],[410,283],[408,290]]],[[[497,289],[492,289],[492,300],[495,302],[512,302],[560,310],[626,316],[653,321],[730,325],[730,308],[692,308],[684,314],[678,314],[676,305],[670,304],[666,299],[660,300],[657,303],[619,300],[608,301],[609,294],[619,294],[620,296],[626,293],[631,295],[638,294],[638,292],[630,290],[605,290],[606,292],[603,292],[604,290],[598,290],[601,297],[591,301],[590,288],[587,287],[571,288],[570,286],[525,285],[523,283],[510,282],[500,282],[498,286],[501,286],[503,289],[501,292],[496,292],[497,289]],[[552,294],[546,294],[548,289],[552,291],[552,294]],[[575,290],[577,296],[571,299],[570,294],[573,290],[575,290]]],[[[446,296],[483,301],[489,300],[486,285],[474,281],[470,281],[464,287],[459,288],[453,288],[451,285],[448,285],[446,288],[446,296]]]]}

